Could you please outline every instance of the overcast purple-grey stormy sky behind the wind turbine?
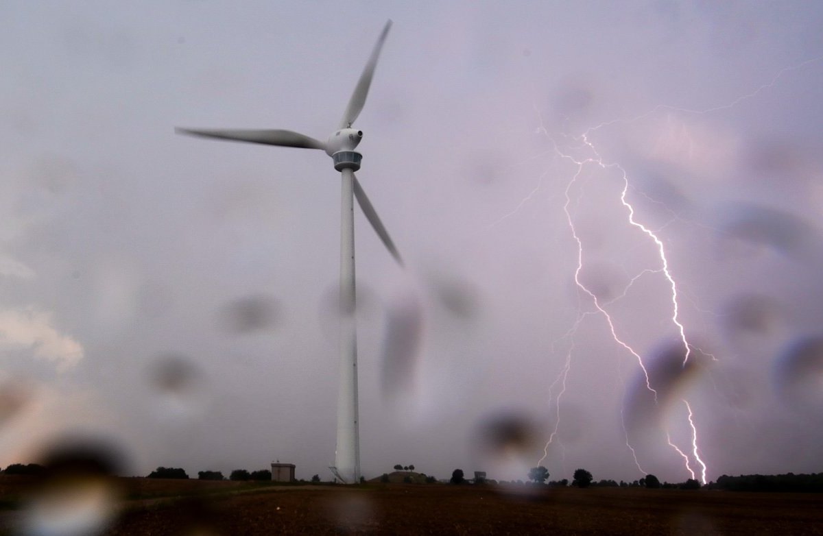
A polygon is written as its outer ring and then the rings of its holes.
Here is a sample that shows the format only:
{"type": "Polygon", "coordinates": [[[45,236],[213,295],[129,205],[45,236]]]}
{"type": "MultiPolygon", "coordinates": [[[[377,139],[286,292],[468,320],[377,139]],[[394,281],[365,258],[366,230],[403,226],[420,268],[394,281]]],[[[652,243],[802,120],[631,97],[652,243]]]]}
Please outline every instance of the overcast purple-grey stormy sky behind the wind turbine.
{"type": "Polygon", "coordinates": [[[364,474],[820,471],[816,2],[2,2],[0,465],[330,478],[339,173],[174,126],[325,140],[388,19],[364,474]]]}

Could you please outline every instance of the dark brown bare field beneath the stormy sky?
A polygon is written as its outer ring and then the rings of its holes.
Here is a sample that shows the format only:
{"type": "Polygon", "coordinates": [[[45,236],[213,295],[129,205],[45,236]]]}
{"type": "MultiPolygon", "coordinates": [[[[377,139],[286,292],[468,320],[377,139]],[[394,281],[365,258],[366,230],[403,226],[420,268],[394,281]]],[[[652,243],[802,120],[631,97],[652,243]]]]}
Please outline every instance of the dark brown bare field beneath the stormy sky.
{"type": "MultiPolygon", "coordinates": [[[[823,534],[823,496],[794,493],[119,479],[105,534],[823,534]]],[[[0,478],[2,533],[25,510],[0,478]]]]}

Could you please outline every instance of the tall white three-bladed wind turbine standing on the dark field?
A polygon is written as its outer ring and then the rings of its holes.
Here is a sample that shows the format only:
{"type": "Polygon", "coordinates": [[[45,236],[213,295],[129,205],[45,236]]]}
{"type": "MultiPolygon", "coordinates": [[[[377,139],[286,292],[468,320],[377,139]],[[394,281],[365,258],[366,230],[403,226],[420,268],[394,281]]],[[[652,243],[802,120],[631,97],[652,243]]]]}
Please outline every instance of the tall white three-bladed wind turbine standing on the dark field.
{"type": "Polygon", "coordinates": [[[338,129],[328,136],[328,141],[315,140],[299,132],[288,130],[203,130],[193,128],[175,128],[179,134],[190,134],[207,138],[231,141],[249,141],[268,146],[298,147],[300,149],[321,149],[332,157],[334,169],[342,175],[342,203],[340,224],[340,390],[337,404],[337,451],[335,465],[330,467],[344,483],[360,481],[360,430],[357,410],[357,335],[355,322],[355,234],[354,234],[354,200],[363,210],[366,219],[378,234],[388,252],[402,266],[402,259],[397,247],[380,221],[363,187],[355,177],[360,169],[362,155],[355,151],[363,137],[363,132],[351,127],[360,115],[369,94],[374,67],[380,49],[383,48],[392,21],[387,21],[374,44],[369,62],[365,64],[360,80],[351,94],[346,112],[338,129]]]}

